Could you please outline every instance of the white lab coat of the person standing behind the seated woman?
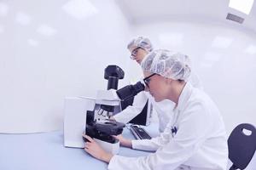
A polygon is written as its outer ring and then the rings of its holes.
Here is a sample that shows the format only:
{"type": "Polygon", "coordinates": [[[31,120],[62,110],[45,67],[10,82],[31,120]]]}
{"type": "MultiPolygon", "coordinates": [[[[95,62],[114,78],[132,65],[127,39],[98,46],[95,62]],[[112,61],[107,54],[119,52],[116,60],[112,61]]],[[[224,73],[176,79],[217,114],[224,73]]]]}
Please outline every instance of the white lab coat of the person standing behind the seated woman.
{"type": "MultiPolygon", "coordinates": [[[[189,82],[195,87],[202,89],[201,81],[199,77],[192,73],[189,77],[189,82]]],[[[117,115],[113,116],[113,118],[117,122],[127,123],[130,122],[135,116],[137,116],[140,112],[143,111],[144,105],[148,100],[148,104],[153,105],[154,111],[157,113],[159,119],[159,131],[160,133],[164,132],[166,125],[170,121],[172,112],[175,104],[169,100],[165,99],[160,102],[155,102],[154,98],[148,92],[141,92],[134,97],[133,105],[128,106],[124,111],[119,112],[117,115]]]]}

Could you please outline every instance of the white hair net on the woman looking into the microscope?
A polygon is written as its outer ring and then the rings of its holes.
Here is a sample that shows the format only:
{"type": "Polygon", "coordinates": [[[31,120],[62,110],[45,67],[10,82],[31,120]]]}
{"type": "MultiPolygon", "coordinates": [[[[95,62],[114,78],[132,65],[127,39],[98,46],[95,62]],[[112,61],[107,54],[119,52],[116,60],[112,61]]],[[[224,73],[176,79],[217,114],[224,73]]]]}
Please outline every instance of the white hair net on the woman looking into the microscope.
{"type": "Polygon", "coordinates": [[[187,55],[165,49],[154,50],[142,62],[143,71],[159,74],[162,77],[187,82],[191,68],[187,55]]]}

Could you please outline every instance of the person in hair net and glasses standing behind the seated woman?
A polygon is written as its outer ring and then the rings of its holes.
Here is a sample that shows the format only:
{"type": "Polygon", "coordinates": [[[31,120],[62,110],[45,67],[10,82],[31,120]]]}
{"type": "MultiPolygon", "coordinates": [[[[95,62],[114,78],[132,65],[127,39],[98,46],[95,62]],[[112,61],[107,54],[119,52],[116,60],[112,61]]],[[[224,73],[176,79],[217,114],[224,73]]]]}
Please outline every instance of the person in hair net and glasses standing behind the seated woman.
{"type": "MultiPolygon", "coordinates": [[[[127,48],[131,52],[131,59],[137,61],[137,64],[141,64],[145,56],[153,50],[153,45],[147,37],[135,37],[128,43],[127,48]]],[[[201,88],[201,82],[199,78],[193,74],[189,78],[189,82],[195,88],[201,88]]],[[[127,123],[130,122],[135,116],[143,111],[146,102],[153,105],[154,111],[157,113],[159,119],[159,131],[163,132],[167,123],[172,118],[170,114],[166,114],[172,111],[174,104],[172,101],[165,99],[159,103],[155,103],[154,98],[148,94],[148,92],[141,92],[134,97],[133,104],[128,106],[124,111],[119,112],[113,116],[113,119],[117,122],[127,123]]]]}

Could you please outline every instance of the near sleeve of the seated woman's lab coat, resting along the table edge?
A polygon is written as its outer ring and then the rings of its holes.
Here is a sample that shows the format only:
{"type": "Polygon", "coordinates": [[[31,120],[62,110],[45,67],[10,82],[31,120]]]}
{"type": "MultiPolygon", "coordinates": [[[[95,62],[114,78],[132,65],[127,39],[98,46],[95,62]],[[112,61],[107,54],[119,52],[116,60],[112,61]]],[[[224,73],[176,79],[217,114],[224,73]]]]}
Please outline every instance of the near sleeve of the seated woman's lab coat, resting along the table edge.
{"type": "Polygon", "coordinates": [[[210,127],[207,110],[200,104],[195,104],[184,112],[179,123],[177,134],[167,144],[160,147],[154,154],[141,157],[113,156],[108,169],[175,169],[187,161],[199,150],[210,127]]]}

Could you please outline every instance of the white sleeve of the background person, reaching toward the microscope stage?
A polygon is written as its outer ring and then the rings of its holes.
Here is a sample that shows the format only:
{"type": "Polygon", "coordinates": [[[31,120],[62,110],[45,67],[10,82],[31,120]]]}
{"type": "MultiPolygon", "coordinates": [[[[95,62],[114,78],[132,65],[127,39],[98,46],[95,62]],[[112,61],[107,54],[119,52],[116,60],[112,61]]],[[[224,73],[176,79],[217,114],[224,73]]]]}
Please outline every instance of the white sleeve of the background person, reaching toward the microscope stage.
{"type": "Polygon", "coordinates": [[[130,122],[135,116],[137,116],[141,111],[143,111],[144,106],[147,102],[147,95],[145,92],[141,92],[134,97],[133,104],[126,107],[124,111],[119,112],[113,116],[114,120],[117,122],[127,123],[130,122]]]}

